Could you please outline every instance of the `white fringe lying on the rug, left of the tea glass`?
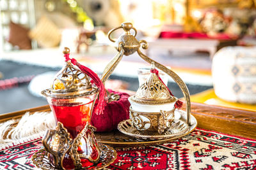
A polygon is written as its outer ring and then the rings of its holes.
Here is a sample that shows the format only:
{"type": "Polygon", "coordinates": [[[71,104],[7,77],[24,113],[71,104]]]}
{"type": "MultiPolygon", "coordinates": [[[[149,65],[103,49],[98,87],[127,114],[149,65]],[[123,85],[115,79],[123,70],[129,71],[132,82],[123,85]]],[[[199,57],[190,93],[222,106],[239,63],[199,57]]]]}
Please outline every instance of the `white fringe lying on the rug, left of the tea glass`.
{"type": "Polygon", "coordinates": [[[22,118],[0,124],[0,150],[41,138],[48,129],[55,129],[56,123],[51,112],[25,113],[22,118]]]}

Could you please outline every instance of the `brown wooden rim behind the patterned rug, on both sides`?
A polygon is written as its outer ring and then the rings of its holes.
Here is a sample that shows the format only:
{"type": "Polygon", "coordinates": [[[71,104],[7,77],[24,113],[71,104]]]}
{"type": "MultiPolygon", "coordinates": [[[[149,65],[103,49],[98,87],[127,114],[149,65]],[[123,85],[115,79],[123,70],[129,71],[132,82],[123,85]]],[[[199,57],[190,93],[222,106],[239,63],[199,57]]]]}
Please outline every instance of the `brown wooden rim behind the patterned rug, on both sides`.
{"type": "MultiPolygon", "coordinates": [[[[184,110],[184,108],[182,108],[184,110]]],[[[27,111],[50,111],[48,105],[29,110],[16,111],[0,115],[0,122],[11,118],[20,118],[27,111]]],[[[221,106],[209,106],[191,103],[191,113],[196,118],[199,128],[211,131],[256,139],[256,111],[237,110],[221,106]]]]}

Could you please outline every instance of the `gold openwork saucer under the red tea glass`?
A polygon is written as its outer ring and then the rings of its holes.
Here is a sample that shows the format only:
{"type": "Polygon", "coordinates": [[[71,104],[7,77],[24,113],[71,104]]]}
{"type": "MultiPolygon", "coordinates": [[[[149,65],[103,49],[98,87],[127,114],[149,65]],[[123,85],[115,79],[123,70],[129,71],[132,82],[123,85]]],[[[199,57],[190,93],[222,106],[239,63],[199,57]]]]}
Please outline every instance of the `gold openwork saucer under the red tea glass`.
{"type": "MultiPolygon", "coordinates": [[[[99,144],[101,150],[100,160],[98,164],[88,169],[102,169],[112,164],[116,159],[116,151],[108,145],[99,144]]],[[[54,166],[50,163],[47,152],[45,149],[38,150],[32,157],[33,164],[44,170],[55,170],[54,166]]]]}

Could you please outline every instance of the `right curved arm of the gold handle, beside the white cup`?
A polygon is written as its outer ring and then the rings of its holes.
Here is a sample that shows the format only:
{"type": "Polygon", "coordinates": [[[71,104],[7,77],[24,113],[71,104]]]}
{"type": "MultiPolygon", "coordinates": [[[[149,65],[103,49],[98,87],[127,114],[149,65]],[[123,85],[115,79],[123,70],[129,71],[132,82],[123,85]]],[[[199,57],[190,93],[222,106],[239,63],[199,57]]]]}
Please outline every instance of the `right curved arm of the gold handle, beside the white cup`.
{"type": "Polygon", "coordinates": [[[137,51],[138,55],[140,55],[140,57],[147,61],[149,64],[151,64],[152,62],[155,63],[155,66],[158,69],[161,69],[161,71],[164,71],[164,73],[168,74],[170,77],[173,78],[173,80],[179,85],[180,89],[182,90],[183,96],[185,98],[186,101],[186,111],[187,111],[187,124],[190,124],[190,114],[191,114],[191,105],[190,105],[190,97],[189,97],[189,91],[188,91],[188,87],[186,86],[186,84],[184,83],[184,81],[181,80],[181,78],[174,73],[171,69],[168,69],[167,67],[164,67],[162,64],[160,64],[159,62],[156,62],[152,59],[150,59],[149,57],[147,57],[147,55],[143,54],[140,50],[137,51]]]}

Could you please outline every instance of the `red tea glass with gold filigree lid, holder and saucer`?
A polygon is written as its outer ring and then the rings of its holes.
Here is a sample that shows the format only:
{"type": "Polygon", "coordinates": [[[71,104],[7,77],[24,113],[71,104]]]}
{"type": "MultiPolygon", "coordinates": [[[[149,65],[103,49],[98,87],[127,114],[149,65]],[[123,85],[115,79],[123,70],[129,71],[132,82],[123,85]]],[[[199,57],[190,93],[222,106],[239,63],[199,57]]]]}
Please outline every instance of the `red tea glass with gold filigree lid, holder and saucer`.
{"type": "MultiPolygon", "coordinates": [[[[65,48],[63,53],[69,55],[69,49],[65,48]]],[[[42,91],[57,125],[42,138],[44,150],[33,156],[37,167],[94,169],[106,167],[116,159],[113,148],[98,145],[94,135],[96,128],[90,125],[99,94],[99,89],[90,80],[92,78],[88,74],[67,60],[56,74],[51,88],[42,91]]]]}

